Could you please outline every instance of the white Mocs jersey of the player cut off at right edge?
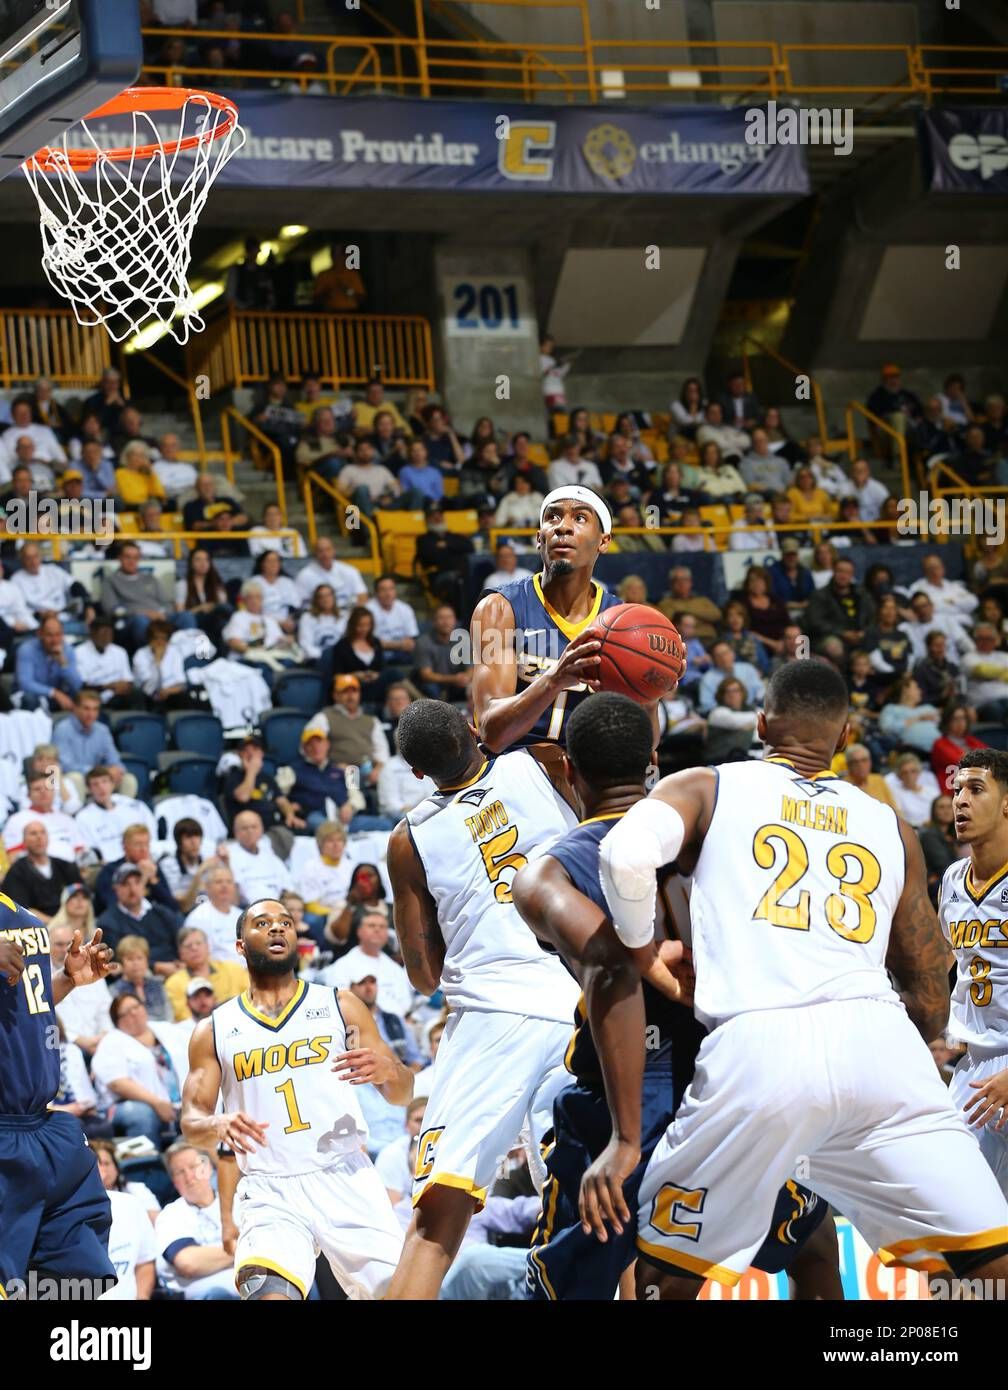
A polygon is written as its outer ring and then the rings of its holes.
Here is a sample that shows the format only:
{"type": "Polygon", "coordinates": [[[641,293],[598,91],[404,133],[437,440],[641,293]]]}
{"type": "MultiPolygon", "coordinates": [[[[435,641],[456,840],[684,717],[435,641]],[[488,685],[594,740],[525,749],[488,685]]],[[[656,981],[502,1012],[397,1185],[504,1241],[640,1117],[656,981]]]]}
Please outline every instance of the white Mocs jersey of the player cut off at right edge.
{"type": "Polygon", "coordinates": [[[1008,1052],[1008,873],[977,887],[970,859],[950,865],[938,922],[958,966],[948,1031],[977,1058],[1008,1052]]]}

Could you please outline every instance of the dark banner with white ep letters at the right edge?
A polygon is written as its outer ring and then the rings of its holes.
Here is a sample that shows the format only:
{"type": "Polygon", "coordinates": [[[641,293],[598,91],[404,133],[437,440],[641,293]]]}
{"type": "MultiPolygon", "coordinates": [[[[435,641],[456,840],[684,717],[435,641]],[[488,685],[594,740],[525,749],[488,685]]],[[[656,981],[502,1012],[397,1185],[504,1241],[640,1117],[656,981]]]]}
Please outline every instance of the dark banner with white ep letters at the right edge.
{"type": "Polygon", "coordinates": [[[933,107],[918,135],[932,192],[1008,193],[1008,107],[933,107]]]}

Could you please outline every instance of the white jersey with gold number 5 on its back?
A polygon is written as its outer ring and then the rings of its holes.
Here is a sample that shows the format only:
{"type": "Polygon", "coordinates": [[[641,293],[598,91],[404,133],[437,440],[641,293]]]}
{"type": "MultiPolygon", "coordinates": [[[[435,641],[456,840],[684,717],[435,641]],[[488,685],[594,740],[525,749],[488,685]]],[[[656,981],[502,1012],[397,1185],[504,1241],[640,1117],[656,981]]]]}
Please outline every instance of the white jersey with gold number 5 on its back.
{"type": "Polygon", "coordinates": [[[463,787],[423,801],[406,823],[438,905],[449,1006],[570,1019],[577,984],[512,902],[512,880],[533,851],[577,823],[539,763],[524,749],[489,759],[463,787]]]}

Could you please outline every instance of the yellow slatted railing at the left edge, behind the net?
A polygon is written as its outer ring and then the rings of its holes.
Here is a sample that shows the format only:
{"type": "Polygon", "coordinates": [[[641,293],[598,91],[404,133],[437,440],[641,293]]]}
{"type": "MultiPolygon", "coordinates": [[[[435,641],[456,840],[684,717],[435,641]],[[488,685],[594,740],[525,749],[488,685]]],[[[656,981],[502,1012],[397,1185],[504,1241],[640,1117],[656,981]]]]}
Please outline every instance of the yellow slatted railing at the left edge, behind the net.
{"type": "Polygon", "coordinates": [[[0,310],[0,386],[47,377],[64,391],[96,386],[113,366],[103,328],[82,328],[68,309],[0,310]]]}

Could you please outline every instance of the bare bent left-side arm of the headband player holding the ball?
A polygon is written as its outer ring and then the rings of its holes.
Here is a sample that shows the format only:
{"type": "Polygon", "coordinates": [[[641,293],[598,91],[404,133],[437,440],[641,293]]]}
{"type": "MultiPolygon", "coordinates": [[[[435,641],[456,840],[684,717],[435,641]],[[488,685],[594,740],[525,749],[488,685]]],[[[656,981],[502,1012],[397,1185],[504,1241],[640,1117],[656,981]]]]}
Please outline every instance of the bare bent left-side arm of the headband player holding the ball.
{"type": "Polygon", "coordinates": [[[552,671],[537,676],[517,691],[514,612],[499,594],[488,594],[477,603],[470,635],[475,723],[480,738],[494,752],[524,738],[562,691],[583,681],[598,689],[594,676],[601,645],[583,632],[570,642],[552,671]]]}

